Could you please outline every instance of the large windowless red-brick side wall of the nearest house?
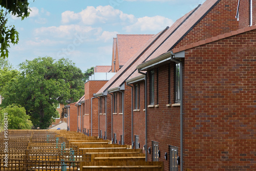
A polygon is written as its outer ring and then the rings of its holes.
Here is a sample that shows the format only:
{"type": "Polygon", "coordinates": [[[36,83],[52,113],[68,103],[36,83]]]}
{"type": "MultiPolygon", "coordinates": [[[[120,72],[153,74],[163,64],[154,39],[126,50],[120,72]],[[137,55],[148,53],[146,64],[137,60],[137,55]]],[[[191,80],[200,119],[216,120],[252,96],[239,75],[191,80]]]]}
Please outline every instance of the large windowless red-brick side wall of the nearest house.
{"type": "Polygon", "coordinates": [[[185,168],[256,170],[256,31],[186,50],[185,168]]]}

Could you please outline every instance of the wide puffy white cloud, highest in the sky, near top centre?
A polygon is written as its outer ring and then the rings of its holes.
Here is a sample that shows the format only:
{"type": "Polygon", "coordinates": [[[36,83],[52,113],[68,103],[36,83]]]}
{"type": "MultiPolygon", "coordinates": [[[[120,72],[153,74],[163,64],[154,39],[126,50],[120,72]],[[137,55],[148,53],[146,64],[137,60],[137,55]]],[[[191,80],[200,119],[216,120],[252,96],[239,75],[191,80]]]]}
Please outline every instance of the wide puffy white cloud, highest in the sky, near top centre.
{"type": "Polygon", "coordinates": [[[79,13],[73,11],[65,11],[61,14],[62,23],[81,22],[84,25],[94,24],[116,24],[116,23],[134,23],[136,18],[132,14],[124,14],[112,6],[88,6],[79,13]]]}

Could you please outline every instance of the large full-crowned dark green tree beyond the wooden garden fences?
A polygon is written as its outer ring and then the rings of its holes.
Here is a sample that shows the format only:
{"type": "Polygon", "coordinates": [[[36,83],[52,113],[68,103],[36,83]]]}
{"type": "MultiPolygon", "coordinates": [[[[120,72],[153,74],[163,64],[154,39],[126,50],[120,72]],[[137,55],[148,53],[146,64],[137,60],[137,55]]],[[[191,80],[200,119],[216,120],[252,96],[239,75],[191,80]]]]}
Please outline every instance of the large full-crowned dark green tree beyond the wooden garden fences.
{"type": "Polygon", "coordinates": [[[51,57],[26,60],[19,65],[20,75],[3,90],[3,106],[24,106],[34,126],[46,129],[58,116],[58,103],[77,101],[84,94],[83,74],[68,59],[51,57]]]}

